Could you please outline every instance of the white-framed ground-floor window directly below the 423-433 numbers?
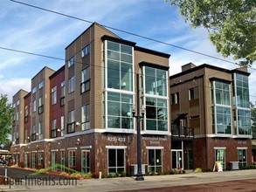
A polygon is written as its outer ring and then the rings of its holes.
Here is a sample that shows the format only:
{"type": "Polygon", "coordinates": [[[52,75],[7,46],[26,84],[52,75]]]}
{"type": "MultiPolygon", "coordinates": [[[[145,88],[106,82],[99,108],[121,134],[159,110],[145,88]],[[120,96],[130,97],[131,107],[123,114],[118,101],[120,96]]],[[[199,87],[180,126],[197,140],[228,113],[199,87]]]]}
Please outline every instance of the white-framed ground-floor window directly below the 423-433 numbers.
{"type": "Polygon", "coordinates": [[[125,172],[124,149],[108,148],[108,174],[125,172]]]}

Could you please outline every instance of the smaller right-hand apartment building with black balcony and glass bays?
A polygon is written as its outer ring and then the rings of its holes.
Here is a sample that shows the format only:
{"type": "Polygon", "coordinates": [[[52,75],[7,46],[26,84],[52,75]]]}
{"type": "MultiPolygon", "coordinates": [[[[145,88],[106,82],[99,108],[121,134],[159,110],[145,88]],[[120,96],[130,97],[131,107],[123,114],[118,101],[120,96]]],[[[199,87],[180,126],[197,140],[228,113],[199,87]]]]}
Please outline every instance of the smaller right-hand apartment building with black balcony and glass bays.
{"type": "Polygon", "coordinates": [[[215,161],[224,169],[231,161],[252,164],[249,75],[246,67],[190,63],[170,76],[172,165],[180,160],[183,168],[206,170],[215,161]]]}

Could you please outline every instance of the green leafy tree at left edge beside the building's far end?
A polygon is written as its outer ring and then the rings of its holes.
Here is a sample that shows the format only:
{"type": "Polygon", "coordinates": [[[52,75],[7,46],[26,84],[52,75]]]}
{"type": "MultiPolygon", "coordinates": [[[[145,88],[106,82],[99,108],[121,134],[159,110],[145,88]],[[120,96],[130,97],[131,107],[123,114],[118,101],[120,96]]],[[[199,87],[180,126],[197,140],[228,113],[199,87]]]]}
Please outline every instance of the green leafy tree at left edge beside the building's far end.
{"type": "Polygon", "coordinates": [[[13,108],[7,103],[7,95],[0,96],[0,144],[9,142],[8,136],[11,134],[10,126],[12,124],[13,108]]]}

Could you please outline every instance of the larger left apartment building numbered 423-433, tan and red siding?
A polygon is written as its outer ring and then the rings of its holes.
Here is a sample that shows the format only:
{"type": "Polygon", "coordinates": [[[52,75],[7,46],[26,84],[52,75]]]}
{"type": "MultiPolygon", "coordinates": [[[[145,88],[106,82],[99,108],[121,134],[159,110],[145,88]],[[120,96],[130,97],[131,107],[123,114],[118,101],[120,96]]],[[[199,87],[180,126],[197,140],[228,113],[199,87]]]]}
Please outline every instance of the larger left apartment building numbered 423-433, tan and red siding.
{"type": "Polygon", "coordinates": [[[45,67],[32,79],[31,93],[19,96],[27,117],[20,127],[28,136],[13,143],[13,158],[31,168],[59,163],[83,174],[131,168],[135,174],[133,112],[140,107],[142,172],[170,171],[169,58],[92,24],[66,47],[63,67],[45,67]]]}

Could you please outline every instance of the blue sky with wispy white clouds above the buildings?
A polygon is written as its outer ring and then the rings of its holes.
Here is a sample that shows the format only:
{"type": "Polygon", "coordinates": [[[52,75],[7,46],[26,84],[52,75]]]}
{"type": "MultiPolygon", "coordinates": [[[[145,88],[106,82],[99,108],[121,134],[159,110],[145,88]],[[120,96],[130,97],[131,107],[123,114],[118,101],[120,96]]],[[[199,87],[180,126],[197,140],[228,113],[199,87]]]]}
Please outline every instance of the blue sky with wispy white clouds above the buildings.
{"type": "MultiPolygon", "coordinates": [[[[121,31],[153,38],[167,44],[223,58],[208,38],[204,28],[191,29],[178,14],[178,8],[164,0],[17,0],[47,10],[97,22],[121,31]]],[[[65,48],[90,26],[70,17],[38,10],[10,0],[0,1],[0,94],[9,102],[20,89],[31,91],[31,79],[45,66],[57,71],[63,60],[43,58],[2,48],[65,58],[65,48]]],[[[163,45],[121,31],[110,30],[121,38],[148,49],[169,53],[170,75],[181,72],[187,63],[209,64],[228,70],[239,67],[218,59],[163,45]]],[[[232,57],[223,58],[235,62],[232,57]]],[[[255,64],[254,64],[255,65],[255,64]]],[[[251,72],[250,100],[256,100],[256,66],[251,72]]]]}

